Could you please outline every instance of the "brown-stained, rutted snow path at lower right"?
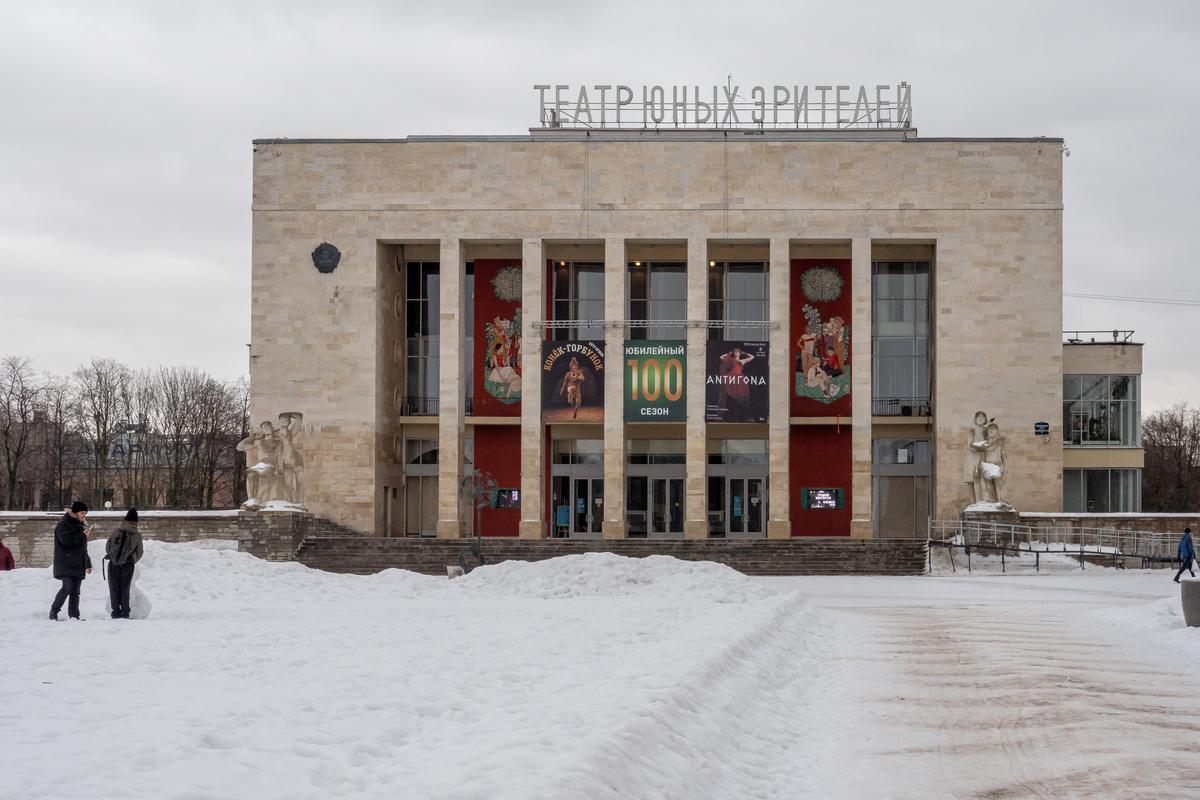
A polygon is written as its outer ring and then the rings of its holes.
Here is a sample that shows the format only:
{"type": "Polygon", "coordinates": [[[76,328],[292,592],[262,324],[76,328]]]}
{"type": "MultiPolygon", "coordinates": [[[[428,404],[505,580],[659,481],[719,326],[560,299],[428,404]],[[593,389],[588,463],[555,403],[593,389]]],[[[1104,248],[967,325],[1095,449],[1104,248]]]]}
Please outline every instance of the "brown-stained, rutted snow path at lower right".
{"type": "MultiPolygon", "coordinates": [[[[869,732],[822,798],[1200,796],[1200,699],[1181,673],[1033,607],[856,608],[869,732]]],[[[856,654],[840,657],[853,660],[856,654]]]]}

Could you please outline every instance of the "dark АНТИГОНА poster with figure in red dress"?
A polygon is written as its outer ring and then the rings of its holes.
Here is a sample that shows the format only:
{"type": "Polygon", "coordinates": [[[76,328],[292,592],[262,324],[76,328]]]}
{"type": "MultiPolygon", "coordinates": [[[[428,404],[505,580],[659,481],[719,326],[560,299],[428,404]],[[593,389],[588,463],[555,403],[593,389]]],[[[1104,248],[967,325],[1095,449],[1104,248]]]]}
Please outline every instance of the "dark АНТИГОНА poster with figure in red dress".
{"type": "Polygon", "coordinates": [[[766,422],[766,342],[709,342],[704,374],[704,420],[766,422]]]}

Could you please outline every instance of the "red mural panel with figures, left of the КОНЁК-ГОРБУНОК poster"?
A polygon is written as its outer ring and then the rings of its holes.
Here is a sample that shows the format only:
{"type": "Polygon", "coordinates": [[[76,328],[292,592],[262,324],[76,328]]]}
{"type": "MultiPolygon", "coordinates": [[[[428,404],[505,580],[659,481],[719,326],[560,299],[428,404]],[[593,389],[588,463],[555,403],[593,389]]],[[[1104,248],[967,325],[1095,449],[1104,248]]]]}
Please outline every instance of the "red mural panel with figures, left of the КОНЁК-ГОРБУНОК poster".
{"type": "Polygon", "coordinates": [[[474,413],[521,414],[521,261],[475,261],[474,413]]]}

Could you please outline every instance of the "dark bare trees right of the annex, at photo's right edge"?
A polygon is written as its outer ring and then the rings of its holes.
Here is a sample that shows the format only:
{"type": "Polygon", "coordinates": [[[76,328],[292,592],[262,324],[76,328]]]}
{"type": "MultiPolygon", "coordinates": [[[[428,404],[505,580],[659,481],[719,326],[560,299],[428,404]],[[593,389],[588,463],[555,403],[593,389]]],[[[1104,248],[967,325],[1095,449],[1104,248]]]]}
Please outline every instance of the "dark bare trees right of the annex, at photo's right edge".
{"type": "Polygon", "coordinates": [[[1180,403],[1141,423],[1146,452],[1141,507],[1145,511],[1194,511],[1200,499],[1200,409],[1180,403]]]}

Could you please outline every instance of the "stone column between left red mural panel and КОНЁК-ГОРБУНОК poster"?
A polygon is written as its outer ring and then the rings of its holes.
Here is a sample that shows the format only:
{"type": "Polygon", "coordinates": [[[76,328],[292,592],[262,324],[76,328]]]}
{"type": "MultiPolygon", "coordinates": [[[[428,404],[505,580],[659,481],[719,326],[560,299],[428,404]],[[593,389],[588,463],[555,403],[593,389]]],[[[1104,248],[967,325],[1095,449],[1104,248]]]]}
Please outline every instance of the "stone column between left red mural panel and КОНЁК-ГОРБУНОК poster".
{"type": "Polygon", "coordinates": [[[546,331],[546,259],[540,239],[521,242],[521,525],[522,539],[546,535],[546,426],[541,423],[541,343],[546,331]]]}

